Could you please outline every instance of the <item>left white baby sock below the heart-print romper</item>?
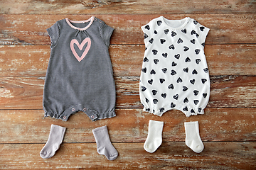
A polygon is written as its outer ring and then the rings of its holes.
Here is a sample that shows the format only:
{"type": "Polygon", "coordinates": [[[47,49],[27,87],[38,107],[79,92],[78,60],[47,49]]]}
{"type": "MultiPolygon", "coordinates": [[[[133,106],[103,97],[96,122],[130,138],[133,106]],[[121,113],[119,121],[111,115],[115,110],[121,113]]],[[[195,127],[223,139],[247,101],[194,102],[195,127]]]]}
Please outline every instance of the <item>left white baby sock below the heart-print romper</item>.
{"type": "Polygon", "coordinates": [[[144,143],[146,152],[153,153],[162,143],[164,122],[149,120],[149,133],[144,143]]]}

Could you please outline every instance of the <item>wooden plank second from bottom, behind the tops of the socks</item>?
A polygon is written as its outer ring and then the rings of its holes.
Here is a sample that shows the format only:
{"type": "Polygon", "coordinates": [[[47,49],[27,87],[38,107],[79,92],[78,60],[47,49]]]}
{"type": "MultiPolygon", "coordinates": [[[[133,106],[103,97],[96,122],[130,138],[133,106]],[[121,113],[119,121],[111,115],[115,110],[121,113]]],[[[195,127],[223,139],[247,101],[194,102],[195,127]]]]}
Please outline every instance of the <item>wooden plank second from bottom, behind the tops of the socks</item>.
{"type": "Polygon", "coordinates": [[[204,115],[191,116],[169,111],[162,117],[142,109],[117,109],[117,116],[92,122],[85,113],[67,122],[43,117],[43,110],[2,110],[0,143],[46,142],[50,125],[67,128],[64,142],[95,142],[92,129],[107,125],[112,142],[144,142],[149,120],[164,121],[163,141],[184,142],[184,122],[198,121],[201,139],[206,141],[255,141],[256,108],[208,108],[204,115]]]}

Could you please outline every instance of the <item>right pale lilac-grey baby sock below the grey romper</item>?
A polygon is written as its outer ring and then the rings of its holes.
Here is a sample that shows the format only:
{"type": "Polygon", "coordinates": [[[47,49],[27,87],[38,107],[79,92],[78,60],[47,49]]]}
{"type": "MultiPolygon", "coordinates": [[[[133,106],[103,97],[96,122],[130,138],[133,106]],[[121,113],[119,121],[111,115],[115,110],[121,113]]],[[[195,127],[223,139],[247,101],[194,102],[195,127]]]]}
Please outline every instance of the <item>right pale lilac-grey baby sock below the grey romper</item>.
{"type": "Polygon", "coordinates": [[[95,140],[97,143],[97,152],[99,154],[104,154],[105,157],[107,157],[107,159],[110,161],[117,159],[118,152],[110,141],[107,126],[96,128],[92,130],[92,133],[95,136],[95,140]]]}

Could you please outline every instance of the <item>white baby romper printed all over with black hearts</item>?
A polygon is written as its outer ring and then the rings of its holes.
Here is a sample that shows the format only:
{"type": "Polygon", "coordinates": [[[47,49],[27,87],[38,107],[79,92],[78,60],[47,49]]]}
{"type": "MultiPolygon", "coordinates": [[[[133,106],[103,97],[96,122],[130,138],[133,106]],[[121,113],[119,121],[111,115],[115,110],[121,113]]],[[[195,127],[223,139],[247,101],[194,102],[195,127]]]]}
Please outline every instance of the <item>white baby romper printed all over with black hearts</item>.
{"type": "Polygon", "coordinates": [[[146,50],[139,82],[144,111],[203,114],[210,96],[204,45],[209,28],[192,18],[163,16],[142,26],[146,50]]]}

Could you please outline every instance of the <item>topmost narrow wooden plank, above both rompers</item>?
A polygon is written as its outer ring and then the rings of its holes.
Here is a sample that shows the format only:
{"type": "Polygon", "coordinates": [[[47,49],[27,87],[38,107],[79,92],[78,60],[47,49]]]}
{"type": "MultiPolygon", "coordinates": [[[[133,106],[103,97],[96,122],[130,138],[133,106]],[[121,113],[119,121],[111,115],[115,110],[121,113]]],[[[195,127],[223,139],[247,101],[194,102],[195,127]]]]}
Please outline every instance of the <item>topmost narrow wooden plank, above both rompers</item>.
{"type": "Polygon", "coordinates": [[[255,1],[1,1],[0,13],[253,13],[255,1]],[[210,5],[209,5],[210,3],[210,5]]]}

